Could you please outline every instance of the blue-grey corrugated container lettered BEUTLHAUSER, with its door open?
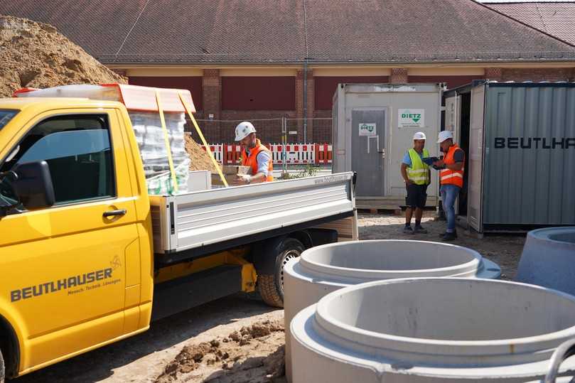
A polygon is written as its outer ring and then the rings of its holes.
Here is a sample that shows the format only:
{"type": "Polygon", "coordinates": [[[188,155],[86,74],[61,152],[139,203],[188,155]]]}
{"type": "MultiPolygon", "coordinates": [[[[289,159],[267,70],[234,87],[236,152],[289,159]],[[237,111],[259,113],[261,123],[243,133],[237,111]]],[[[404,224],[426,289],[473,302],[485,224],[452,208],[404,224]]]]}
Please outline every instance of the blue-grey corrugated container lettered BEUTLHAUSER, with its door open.
{"type": "Polygon", "coordinates": [[[477,232],[575,225],[575,84],[473,82],[445,94],[466,151],[461,222],[477,232]]]}

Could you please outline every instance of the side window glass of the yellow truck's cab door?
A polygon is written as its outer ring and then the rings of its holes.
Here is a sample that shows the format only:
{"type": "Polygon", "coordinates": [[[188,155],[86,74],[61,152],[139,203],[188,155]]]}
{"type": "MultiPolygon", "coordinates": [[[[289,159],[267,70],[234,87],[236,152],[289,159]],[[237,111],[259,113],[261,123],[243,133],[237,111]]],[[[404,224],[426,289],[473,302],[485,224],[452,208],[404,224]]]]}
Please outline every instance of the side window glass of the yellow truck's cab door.
{"type": "Polygon", "coordinates": [[[1,166],[46,161],[57,205],[116,195],[107,115],[51,117],[34,126],[1,166]]]}

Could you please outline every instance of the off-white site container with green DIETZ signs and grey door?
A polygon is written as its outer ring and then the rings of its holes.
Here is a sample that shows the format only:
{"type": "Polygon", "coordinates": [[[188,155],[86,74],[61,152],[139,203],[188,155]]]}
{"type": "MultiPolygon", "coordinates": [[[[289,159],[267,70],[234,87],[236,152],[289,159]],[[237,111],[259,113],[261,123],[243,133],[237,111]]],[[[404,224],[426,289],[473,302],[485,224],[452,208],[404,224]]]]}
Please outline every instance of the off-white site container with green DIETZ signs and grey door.
{"type": "MultiPolygon", "coordinates": [[[[405,205],[402,158],[417,131],[437,156],[443,84],[340,84],[333,96],[333,172],[358,173],[359,208],[397,209],[405,205]]],[[[427,190],[436,206],[439,185],[434,171],[427,190]]]]}

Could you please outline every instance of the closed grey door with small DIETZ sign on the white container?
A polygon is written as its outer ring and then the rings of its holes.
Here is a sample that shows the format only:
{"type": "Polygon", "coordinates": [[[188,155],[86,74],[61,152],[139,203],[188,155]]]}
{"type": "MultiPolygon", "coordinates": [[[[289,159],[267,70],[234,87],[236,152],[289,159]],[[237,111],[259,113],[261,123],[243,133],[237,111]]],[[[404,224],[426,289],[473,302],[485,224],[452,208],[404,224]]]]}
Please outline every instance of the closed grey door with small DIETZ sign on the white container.
{"type": "Polygon", "coordinates": [[[358,197],[384,195],[385,109],[351,112],[351,169],[358,173],[358,197]]]}

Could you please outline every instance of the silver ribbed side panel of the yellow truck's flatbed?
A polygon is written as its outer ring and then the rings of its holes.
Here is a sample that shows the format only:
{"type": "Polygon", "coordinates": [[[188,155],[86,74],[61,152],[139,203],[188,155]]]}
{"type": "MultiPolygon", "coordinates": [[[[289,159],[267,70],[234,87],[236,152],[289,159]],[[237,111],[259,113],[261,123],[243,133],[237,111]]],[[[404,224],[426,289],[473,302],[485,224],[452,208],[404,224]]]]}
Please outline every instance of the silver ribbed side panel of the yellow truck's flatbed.
{"type": "MultiPolygon", "coordinates": [[[[262,233],[313,227],[355,211],[354,173],[151,195],[154,253],[168,262],[200,255],[262,233]],[[220,246],[218,246],[220,245],[220,246]],[[178,254],[178,255],[175,255],[178,254]]],[[[164,262],[162,262],[164,263],[164,262]]]]}

